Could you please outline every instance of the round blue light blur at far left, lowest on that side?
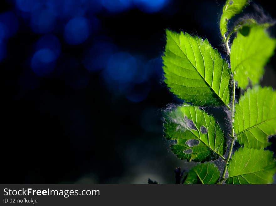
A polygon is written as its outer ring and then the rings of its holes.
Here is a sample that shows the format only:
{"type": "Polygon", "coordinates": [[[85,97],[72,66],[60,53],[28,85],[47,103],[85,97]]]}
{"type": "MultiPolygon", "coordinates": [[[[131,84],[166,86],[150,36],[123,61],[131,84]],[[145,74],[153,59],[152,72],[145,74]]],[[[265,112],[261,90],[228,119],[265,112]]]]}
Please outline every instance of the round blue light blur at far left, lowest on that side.
{"type": "Polygon", "coordinates": [[[31,60],[31,67],[34,73],[39,77],[50,75],[56,66],[56,55],[48,49],[41,49],[35,52],[31,60]]]}

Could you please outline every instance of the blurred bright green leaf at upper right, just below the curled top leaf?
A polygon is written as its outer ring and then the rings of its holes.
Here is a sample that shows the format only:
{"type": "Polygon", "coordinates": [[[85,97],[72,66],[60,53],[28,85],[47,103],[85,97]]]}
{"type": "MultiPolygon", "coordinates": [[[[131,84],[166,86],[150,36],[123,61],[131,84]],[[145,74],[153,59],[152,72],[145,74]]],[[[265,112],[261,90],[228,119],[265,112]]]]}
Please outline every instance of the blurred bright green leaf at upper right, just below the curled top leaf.
{"type": "Polygon", "coordinates": [[[245,89],[249,83],[257,84],[264,73],[264,66],[273,55],[276,40],[270,38],[264,25],[250,26],[249,34],[238,32],[231,46],[231,71],[238,86],[245,89]]]}

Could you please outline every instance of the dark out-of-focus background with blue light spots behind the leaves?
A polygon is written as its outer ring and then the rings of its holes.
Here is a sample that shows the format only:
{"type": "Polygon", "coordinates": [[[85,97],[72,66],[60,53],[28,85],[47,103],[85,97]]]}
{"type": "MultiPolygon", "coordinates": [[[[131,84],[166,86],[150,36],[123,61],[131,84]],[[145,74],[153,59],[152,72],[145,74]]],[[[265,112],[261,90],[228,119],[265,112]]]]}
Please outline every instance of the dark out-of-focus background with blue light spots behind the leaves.
{"type": "MultiPolygon", "coordinates": [[[[231,22],[275,19],[272,2],[254,3],[231,22]]],[[[174,168],[194,163],[163,138],[162,109],[181,103],[163,83],[165,29],[208,38],[227,57],[223,4],[1,1],[1,183],[174,183],[174,168]]],[[[276,88],[275,64],[263,86],[276,88]]]]}

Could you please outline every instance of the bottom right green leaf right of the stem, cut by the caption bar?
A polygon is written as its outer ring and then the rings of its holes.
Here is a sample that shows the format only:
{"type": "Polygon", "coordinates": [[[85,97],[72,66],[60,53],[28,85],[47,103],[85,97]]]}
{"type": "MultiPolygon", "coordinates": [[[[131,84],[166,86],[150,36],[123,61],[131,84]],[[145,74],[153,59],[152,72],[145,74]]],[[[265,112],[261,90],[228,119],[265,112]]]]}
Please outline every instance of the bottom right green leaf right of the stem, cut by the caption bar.
{"type": "Polygon", "coordinates": [[[276,162],[271,151],[240,148],[228,165],[226,184],[268,184],[273,182],[276,162]]]}

